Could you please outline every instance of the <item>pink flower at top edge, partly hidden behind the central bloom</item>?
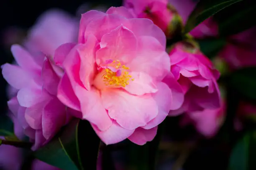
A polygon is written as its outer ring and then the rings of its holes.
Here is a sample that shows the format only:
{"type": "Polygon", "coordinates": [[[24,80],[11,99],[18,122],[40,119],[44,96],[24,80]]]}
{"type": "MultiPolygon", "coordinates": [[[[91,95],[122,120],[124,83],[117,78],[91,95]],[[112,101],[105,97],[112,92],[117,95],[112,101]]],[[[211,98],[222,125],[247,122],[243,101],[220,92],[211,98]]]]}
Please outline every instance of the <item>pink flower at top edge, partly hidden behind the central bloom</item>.
{"type": "Polygon", "coordinates": [[[151,19],[166,36],[182,29],[182,20],[168,0],[124,0],[124,6],[138,18],[151,19]]]}

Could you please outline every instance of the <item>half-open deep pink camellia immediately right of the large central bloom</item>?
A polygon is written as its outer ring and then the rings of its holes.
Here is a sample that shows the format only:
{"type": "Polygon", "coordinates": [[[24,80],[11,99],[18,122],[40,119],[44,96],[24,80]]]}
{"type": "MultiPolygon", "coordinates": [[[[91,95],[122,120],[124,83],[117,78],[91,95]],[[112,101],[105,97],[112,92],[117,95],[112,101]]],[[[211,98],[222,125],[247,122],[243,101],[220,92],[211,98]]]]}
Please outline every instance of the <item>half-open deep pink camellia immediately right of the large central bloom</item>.
{"type": "MultiPolygon", "coordinates": [[[[220,91],[216,80],[219,72],[211,61],[189,42],[177,43],[169,54],[171,71],[182,86],[184,103],[179,110],[170,112],[195,112],[220,107],[220,91]]],[[[164,79],[169,86],[169,76],[164,79]]]]}

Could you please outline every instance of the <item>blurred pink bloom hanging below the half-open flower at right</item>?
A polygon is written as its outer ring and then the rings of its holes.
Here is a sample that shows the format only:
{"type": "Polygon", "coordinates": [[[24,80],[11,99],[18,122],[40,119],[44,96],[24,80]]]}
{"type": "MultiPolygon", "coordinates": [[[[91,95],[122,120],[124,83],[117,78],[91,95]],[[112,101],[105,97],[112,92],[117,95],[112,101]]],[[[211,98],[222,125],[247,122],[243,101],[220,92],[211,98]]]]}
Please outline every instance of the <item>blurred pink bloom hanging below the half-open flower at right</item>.
{"type": "Polygon", "coordinates": [[[217,109],[204,109],[203,111],[185,113],[181,125],[194,124],[197,131],[205,137],[213,137],[223,125],[225,118],[225,103],[217,109]]]}

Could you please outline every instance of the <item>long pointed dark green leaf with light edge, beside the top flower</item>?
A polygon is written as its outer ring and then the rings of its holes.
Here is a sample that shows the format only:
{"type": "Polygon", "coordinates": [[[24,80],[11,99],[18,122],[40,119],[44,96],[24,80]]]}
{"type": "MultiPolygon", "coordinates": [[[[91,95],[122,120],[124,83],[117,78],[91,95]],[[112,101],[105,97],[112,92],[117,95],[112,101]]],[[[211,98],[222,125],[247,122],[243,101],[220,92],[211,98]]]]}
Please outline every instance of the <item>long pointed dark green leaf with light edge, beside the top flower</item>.
{"type": "Polygon", "coordinates": [[[200,2],[197,3],[196,8],[189,15],[184,28],[184,33],[188,33],[198,24],[202,23],[202,21],[239,1],[242,0],[200,0],[200,2]]]}

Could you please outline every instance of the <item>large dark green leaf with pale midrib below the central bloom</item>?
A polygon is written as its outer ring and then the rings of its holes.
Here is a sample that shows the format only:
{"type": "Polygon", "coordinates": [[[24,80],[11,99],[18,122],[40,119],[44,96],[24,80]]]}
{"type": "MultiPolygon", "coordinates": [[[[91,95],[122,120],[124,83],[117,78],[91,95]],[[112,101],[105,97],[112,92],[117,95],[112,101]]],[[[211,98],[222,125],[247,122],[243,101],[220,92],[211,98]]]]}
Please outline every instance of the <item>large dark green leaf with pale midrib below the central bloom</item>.
{"type": "Polygon", "coordinates": [[[100,139],[90,123],[74,119],[34,154],[62,170],[85,170],[86,166],[96,170],[99,144],[100,139]]]}

